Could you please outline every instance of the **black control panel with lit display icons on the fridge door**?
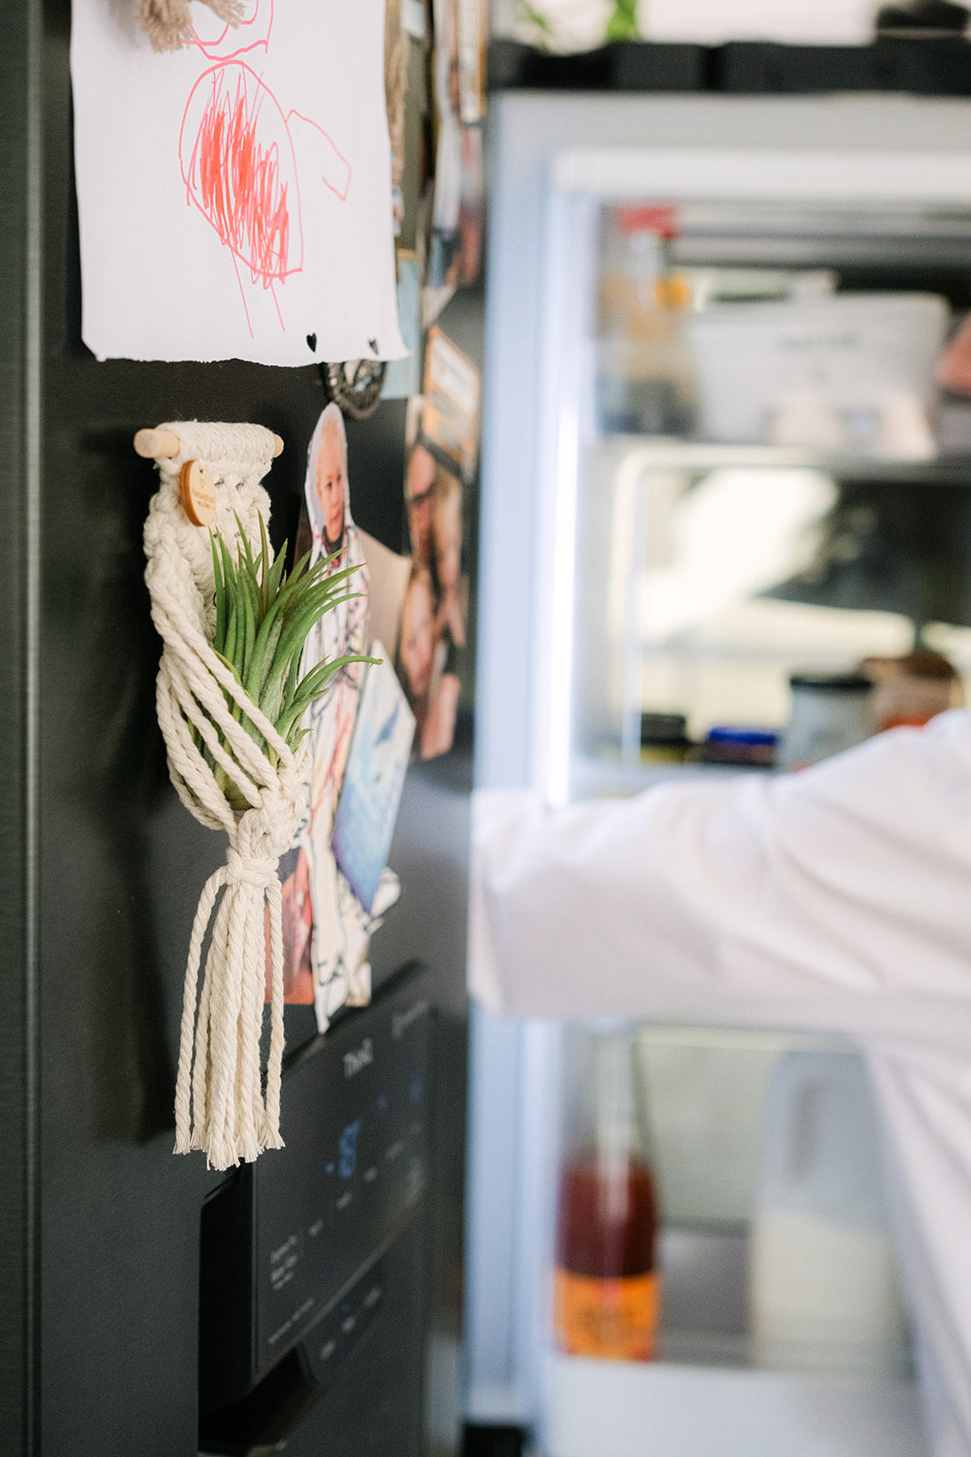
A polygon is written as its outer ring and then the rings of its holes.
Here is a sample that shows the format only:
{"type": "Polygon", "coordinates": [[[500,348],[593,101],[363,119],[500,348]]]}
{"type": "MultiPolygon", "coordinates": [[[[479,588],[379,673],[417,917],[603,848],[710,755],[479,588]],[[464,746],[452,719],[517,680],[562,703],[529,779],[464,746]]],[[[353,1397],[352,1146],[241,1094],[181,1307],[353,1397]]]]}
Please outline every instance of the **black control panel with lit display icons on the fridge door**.
{"type": "Polygon", "coordinates": [[[245,1397],[304,1336],[322,1370],[346,1343],[330,1351],[342,1300],[425,1192],[429,1020],[428,978],[415,970],[314,1039],[284,1075],[285,1148],[205,1205],[204,1410],[245,1397]]]}

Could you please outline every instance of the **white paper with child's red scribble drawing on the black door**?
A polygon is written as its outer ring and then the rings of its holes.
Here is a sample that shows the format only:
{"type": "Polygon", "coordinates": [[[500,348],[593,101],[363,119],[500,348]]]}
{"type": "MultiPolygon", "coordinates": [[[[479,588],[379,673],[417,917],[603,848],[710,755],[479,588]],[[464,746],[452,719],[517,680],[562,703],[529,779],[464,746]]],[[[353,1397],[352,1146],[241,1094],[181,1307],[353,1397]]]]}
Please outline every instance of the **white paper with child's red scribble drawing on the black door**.
{"type": "Polygon", "coordinates": [[[73,0],[84,342],[99,358],[400,358],[381,0],[197,6],[156,54],[73,0]]]}

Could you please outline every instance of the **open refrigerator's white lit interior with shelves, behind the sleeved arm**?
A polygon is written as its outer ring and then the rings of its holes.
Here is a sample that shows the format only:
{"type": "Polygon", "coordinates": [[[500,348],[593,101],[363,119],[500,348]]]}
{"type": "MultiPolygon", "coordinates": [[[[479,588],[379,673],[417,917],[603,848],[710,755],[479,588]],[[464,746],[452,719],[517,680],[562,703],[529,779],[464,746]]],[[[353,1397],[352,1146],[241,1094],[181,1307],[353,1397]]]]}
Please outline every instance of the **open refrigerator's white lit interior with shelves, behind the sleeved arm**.
{"type": "MultiPolygon", "coordinates": [[[[766,772],[790,678],[917,647],[955,682],[971,666],[968,412],[936,383],[971,302],[968,102],[598,90],[623,85],[622,50],[595,76],[585,58],[584,93],[534,61],[491,115],[475,775],[552,804],[766,772]]],[[[799,51],[774,50],[799,89],[799,51]]],[[[904,1326],[889,1359],[847,1361],[823,1327],[812,1349],[758,1339],[786,1080],[815,1067],[837,1107],[852,1043],[639,1040],[659,1358],[584,1359],[552,1326],[563,1024],[473,1008],[470,1418],[543,1457],[917,1457],[904,1326]]],[[[869,1123],[891,1201],[879,1145],[869,1123]]]]}

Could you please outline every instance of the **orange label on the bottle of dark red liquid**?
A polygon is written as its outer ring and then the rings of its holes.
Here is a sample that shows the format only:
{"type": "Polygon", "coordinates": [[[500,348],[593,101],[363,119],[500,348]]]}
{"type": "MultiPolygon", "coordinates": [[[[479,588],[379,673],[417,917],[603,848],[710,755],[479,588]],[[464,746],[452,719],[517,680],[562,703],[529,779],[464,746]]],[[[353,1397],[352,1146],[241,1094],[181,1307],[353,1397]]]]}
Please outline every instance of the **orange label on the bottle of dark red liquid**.
{"type": "Polygon", "coordinates": [[[659,1316],[657,1272],[595,1279],[553,1271],[553,1329],[560,1351],[610,1361],[651,1361],[659,1316]]]}

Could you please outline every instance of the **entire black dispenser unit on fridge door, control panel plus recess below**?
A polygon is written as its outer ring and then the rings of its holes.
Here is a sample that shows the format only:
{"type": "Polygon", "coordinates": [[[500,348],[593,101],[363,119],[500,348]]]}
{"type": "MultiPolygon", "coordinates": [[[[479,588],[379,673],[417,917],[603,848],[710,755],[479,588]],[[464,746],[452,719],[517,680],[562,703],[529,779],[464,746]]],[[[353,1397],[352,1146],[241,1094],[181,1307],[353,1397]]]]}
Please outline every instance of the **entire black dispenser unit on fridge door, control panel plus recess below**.
{"type": "Polygon", "coordinates": [[[287,1147],[204,1205],[207,1453],[422,1450],[437,1020],[412,966],[313,1039],[284,1075],[287,1147]]]}

